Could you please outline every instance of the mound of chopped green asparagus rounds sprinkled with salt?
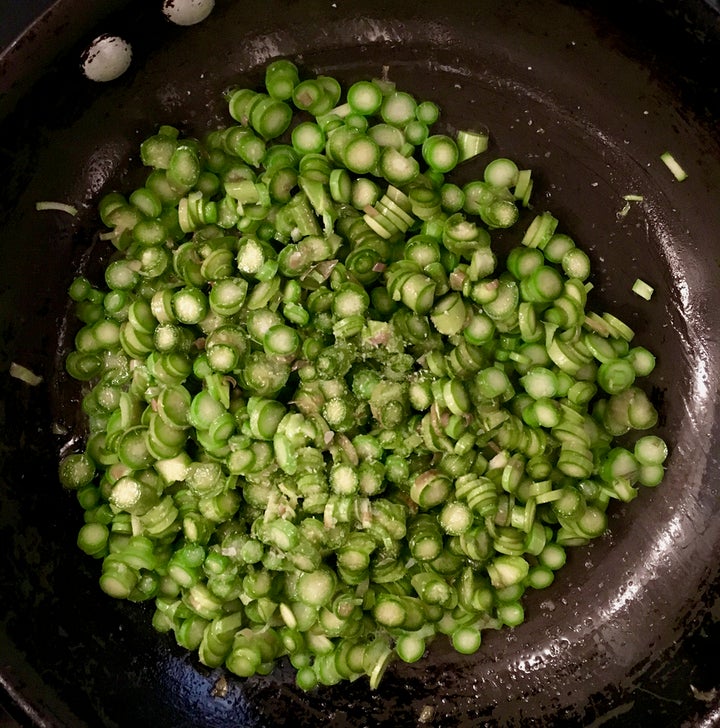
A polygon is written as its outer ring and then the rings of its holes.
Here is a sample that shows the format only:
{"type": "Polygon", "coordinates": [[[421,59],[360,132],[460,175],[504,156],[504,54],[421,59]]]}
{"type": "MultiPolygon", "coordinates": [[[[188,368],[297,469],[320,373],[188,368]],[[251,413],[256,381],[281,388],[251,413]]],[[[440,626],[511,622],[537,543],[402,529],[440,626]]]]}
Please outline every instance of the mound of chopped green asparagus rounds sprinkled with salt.
{"type": "Polygon", "coordinates": [[[144,186],[101,200],[116,250],[70,287],[66,360],[89,435],[60,480],[104,592],[202,664],[374,688],[438,635],[519,625],[662,480],[662,440],[615,440],[657,422],[655,358],[588,307],[529,170],[452,182],[486,136],[387,79],[343,97],[279,60],[265,85],[202,140],[160,127],[144,186]]]}

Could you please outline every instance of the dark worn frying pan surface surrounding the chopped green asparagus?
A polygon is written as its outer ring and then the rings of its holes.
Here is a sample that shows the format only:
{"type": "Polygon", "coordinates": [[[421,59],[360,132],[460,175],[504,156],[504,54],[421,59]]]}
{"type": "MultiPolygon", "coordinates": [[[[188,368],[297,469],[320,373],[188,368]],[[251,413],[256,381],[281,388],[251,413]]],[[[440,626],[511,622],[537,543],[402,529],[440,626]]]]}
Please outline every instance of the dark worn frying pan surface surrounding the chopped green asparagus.
{"type": "MultiPolygon", "coordinates": [[[[720,724],[720,8],[626,0],[218,0],[191,28],[160,2],[58,0],[0,57],[0,685],[37,726],[712,726],[720,724]],[[82,50],[102,32],[130,70],[94,84],[82,50]],[[590,254],[596,305],[658,354],[649,394],[671,447],[665,482],[613,505],[607,536],[571,552],[526,621],[473,656],[443,640],[414,665],[299,691],[208,670],[105,597],[75,546],[81,514],[56,476],[82,436],[62,374],[65,291],[107,258],[94,205],[137,179],[160,123],[227,123],[221,92],[257,85],[278,56],[347,84],[388,66],[440,104],[443,129],[486,125],[491,154],[534,170],[550,210],[590,254]],[[688,172],[677,182],[659,157],[688,172]],[[129,161],[128,161],[129,160],[129,161]],[[642,195],[625,214],[623,196],[642,195]],[[75,204],[71,218],[37,200],[75,204]],[[655,287],[646,302],[636,277],[655,287]],[[30,387],[11,361],[43,377],[30,387]],[[58,434],[62,433],[62,434],[58,434]]],[[[480,164],[480,163],[478,163],[480,164]]],[[[478,174],[466,165],[459,179],[478,174]]],[[[507,242],[507,241],[506,241],[507,242]]],[[[502,241],[499,243],[502,245],[502,241]]]]}

